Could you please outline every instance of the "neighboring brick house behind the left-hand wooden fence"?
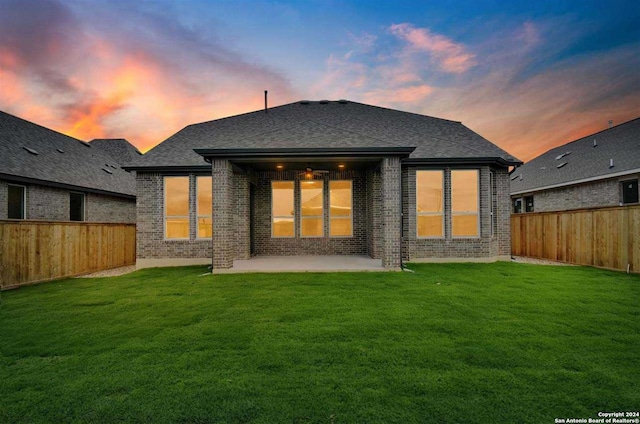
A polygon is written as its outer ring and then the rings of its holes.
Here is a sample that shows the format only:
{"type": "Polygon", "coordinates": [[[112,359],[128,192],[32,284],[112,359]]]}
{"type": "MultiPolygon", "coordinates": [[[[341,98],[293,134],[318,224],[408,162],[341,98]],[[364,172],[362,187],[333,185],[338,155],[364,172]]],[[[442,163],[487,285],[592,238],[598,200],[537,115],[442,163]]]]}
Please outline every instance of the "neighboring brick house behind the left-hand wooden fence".
{"type": "Polygon", "coordinates": [[[0,112],[0,219],[135,222],[135,176],[84,141],[0,112]]]}

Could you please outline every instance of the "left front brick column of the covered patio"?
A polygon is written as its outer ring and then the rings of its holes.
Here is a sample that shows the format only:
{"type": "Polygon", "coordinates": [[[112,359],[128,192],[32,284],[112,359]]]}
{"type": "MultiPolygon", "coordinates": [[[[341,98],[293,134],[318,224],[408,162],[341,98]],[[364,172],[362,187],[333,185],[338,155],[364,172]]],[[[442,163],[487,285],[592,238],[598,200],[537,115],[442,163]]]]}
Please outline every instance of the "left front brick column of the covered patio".
{"type": "Polygon", "coordinates": [[[213,204],[213,269],[233,266],[233,169],[226,159],[211,161],[213,204]]]}

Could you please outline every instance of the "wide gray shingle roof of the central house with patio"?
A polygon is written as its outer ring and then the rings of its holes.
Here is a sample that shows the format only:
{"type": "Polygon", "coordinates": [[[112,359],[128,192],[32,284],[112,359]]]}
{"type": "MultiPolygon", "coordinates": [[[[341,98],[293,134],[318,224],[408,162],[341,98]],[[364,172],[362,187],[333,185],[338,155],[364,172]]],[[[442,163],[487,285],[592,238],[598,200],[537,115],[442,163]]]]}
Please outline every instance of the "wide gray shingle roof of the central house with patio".
{"type": "Polygon", "coordinates": [[[415,147],[411,159],[521,162],[460,122],[346,100],[300,101],[185,127],[129,164],[206,165],[194,149],[415,147]]]}

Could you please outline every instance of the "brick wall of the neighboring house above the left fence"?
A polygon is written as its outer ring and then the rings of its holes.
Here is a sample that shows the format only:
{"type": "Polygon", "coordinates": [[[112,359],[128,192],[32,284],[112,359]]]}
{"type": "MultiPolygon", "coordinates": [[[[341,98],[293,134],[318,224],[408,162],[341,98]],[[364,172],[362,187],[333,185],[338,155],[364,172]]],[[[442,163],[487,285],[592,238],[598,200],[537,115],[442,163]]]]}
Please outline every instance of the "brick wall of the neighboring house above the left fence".
{"type": "MultiPolygon", "coordinates": [[[[0,180],[0,219],[7,219],[7,186],[0,180]]],[[[133,199],[66,190],[38,184],[15,183],[26,187],[26,219],[69,221],[69,193],[85,194],[85,219],[88,222],[136,222],[136,203],[133,199]]]]}

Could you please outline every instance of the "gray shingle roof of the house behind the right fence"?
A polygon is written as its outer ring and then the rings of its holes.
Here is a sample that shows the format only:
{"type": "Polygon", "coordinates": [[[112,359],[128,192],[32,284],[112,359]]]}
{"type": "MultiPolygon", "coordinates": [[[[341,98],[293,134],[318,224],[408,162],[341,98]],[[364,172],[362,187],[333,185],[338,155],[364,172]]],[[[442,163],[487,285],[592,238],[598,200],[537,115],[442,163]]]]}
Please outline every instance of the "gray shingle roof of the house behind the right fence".
{"type": "Polygon", "coordinates": [[[511,173],[511,194],[640,172],[640,118],[549,150],[511,173]],[[611,160],[613,159],[613,166],[611,160]]]}

